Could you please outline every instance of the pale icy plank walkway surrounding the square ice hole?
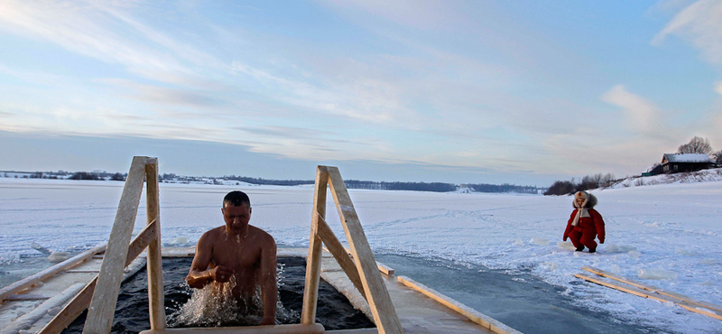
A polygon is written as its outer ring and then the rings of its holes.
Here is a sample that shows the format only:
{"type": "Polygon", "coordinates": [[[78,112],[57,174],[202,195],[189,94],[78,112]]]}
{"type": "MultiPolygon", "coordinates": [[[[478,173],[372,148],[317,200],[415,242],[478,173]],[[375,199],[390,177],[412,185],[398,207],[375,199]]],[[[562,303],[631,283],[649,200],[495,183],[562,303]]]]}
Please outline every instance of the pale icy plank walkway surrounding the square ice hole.
{"type": "MultiPolygon", "coordinates": [[[[308,250],[305,248],[279,248],[278,257],[306,257],[308,250]]],[[[194,247],[184,248],[162,248],[163,257],[188,257],[195,254],[194,247]]],[[[137,263],[131,264],[133,269],[128,274],[132,274],[143,268],[145,256],[139,256],[137,263]]],[[[0,332],[3,329],[16,329],[22,327],[23,330],[37,332],[52,319],[57,311],[71,299],[69,296],[67,301],[60,302],[52,307],[42,309],[42,303],[49,301],[52,297],[60,295],[69,287],[82,284],[83,286],[90,282],[96,275],[102,263],[102,257],[89,257],[85,262],[74,267],[64,270],[60,274],[51,276],[42,283],[24,290],[23,292],[9,295],[5,301],[0,304],[0,332]],[[31,313],[33,310],[42,310],[43,314],[37,319],[32,319],[32,323],[13,325],[13,321],[18,320],[23,314],[31,313]],[[12,325],[12,326],[11,326],[12,325]]],[[[393,270],[383,266],[386,270],[393,270]]],[[[353,283],[347,278],[336,260],[328,253],[323,253],[321,261],[321,277],[328,283],[333,285],[339,292],[347,296],[349,302],[355,305],[356,309],[364,311],[369,319],[373,320],[368,303],[364,297],[356,290],[353,283]]],[[[399,315],[403,329],[408,334],[425,334],[425,333],[509,333],[520,334],[514,329],[498,324],[495,330],[485,328],[482,325],[469,320],[458,311],[451,310],[448,306],[437,302],[421,292],[417,292],[412,288],[399,283],[394,275],[383,274],[384,284],[393,301],[396,312],[399,315]]],[[[430,289],[428,289],[430,290],[430,289]]],[[[432,290],[430,290],[433,292],[432,290]]],[[[143,296],[143,298],[147,298],[143,296]]],[[[463,305],[462,305],[463,306],[463,305]]],[[[478,314],[478,313],[477,313],[478,314]]],[[[485,318],[486,319],[486,318],[485,318]]],[[[493,320],[494,321],[494,320],[493,320]]],[[[160,332],[160,331],[159,331],[160,332]]],[[[328,331],[329,333],[376,333],[376,329],[354,329],[347,331],[328,331]]],[[[17,331],[14,331],[17,333],[17,331]]]]}

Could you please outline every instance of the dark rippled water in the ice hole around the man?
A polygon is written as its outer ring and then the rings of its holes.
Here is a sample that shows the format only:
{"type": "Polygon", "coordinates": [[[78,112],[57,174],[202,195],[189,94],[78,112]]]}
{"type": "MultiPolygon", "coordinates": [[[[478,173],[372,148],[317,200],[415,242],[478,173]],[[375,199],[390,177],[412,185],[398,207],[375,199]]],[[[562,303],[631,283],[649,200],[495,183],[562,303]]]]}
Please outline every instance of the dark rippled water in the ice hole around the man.
{"type": "MultiPolygon", "coordinates": [[[[169,316],[178,311],[182,304],[188,302],[193,292],[193,289],[183,282],[183,278],[188,274],[191,261],[190,257],[163,259],[165,312],[169,316]]],[[[278,299],[282,303],[284,311],[277,311],[277,321],[282,324],[301,323],[306,260],[301,257],[279,257],[278,263],[282,266],[278,299]],[[278,316],[280,313],[282,316],[278,316]]],[[[81,314],[63,333],[82,333],[85,315],[85,312],[81,314]]],[[[374,323],[366,318],[366,315],[354,309],[343,294],[322,280],[319,284],[316,321],[327,330],[375,327],[374,323]]],[[[224,326],[239,326],[239,324],[224,324],[224,326]]],[[[116,305],[116,318],[113,321],[111,332],[138,333],[146,329],[150,329],[148,275],[143,270],[121,286],[116,305]]]]}

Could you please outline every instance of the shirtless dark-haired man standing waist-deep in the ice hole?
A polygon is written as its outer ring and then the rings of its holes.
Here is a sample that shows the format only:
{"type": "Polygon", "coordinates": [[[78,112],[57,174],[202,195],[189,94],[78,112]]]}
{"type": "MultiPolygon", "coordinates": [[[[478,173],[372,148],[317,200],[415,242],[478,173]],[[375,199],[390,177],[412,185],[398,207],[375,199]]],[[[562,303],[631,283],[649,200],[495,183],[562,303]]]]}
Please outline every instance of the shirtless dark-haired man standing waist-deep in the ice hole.
{"type": "Polygon", "coordinates": [[[262,229],[248,225],[251,200],[243,191],[229,192],[220,210],[226,226],[213,228],[200,237],[186,281],[199,289],[214,281],[227,283],[235,276],[233,294],[244,302],[252,301],[256,286],[260,286],[264,302],[261,325],[274,325],[278,299],[275,240],[262,229]]]}

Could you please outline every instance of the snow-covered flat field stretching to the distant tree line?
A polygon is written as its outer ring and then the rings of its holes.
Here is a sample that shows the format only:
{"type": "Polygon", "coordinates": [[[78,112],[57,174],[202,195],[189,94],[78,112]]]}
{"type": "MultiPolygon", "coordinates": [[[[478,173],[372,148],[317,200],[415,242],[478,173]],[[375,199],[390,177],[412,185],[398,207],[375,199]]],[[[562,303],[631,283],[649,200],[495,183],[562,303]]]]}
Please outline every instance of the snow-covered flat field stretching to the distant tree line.
{"type": "MultiPolygon", "coordinates": [[[[33,242],[69,251],[106,241],[122,187],[118,181],[0,178],[0,271],[37,255],[33,242]]],[[[270,232],[280,246],[308,246],[312,187],[183,184],[161,186],[163,244],[194,245],[203,231],[221,225],[221,199],[236,187],[251,197],[252,224],[270,232]]],[[[721,181],[593,191],[606,222],[606,244],[597,254],[559,244],[572,210],[568,196],[349,192],[376,253],[529,272],[578,296],[581,307],[609,312],[621,322],[659,332],[722,332],[720,320],[579,283],[573,276],[592,265],[722,305],[721,181]],[[639,277],[655,271],[663,279],[639,277]]],[[[329,225],[343,239],[330,196],[328,208],[329,225]]],[[[143,212],[142,205],[136,232],[143,212]]]]}

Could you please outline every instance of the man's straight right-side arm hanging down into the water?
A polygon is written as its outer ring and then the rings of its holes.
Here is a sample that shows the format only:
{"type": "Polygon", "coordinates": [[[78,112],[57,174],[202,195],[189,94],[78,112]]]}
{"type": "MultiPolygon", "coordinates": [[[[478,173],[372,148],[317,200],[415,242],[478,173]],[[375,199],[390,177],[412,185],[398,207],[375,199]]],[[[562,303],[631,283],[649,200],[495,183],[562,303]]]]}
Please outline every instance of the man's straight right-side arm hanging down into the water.
{"type": "Polygon", "coordinates": [[[267,235],[267,241],[261,249],[261,295],[264,299],[264,320],[261,325],[274,325],[276,321],[276,301],[278,300],[278,287],[276,286],[276,242],[267,235]]]}

